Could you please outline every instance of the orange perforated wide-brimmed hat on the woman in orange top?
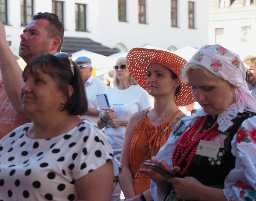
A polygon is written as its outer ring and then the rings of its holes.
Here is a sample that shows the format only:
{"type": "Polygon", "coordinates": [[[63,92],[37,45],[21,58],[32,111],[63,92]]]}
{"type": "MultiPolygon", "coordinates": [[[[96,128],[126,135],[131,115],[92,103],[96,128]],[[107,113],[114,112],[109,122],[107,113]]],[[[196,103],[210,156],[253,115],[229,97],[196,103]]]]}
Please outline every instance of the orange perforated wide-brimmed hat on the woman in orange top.
{"type": "Polygon", "coordinates": [[[172,70],[180,79],[180,91],[175,95],[175,104],[185,106],[194,103],[195,99],[191,86],[181,80],[181,70],[186,66],[187,61],[168,51],[133,48],[126,57],[127,67],[133,78],[147,90],[147,70],[151,63],[158,63],[172,70]]]}

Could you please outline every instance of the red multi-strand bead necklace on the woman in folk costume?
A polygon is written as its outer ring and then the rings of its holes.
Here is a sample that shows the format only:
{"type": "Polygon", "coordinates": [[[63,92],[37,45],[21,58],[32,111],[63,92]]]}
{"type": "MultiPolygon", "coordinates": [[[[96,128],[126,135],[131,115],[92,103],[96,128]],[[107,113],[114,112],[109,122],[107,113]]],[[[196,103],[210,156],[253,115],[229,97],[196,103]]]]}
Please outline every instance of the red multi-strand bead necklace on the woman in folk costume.
{"type": "Polygon", "coordinates": [[[186,162],[185,167],[181,170],[180,175],[184,175],[196,154],[198,143],[201,139],[209,141],[220,133],[217,121],[207,130],[203,131],[203,126],[208,115],[200,117],[196,124],[187,130],[181,136],[172,154],[172,163],[180,166],[182,162],[186,162]]]}

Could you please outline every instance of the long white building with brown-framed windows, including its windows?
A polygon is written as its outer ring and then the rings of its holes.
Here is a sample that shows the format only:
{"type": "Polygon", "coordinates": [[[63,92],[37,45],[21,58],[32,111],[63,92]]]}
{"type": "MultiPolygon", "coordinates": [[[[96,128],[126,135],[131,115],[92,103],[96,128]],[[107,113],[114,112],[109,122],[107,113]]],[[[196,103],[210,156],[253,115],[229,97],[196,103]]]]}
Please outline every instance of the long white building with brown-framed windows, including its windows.
{"type": "Polygon", "coordinates": [[[175,51],[208,43],[206,0],[1,0],[0,6],[17,57],[20,34],[40,11],[60,17],[64,37],[89,38],[118,51],[145,45],[175,51]]]}

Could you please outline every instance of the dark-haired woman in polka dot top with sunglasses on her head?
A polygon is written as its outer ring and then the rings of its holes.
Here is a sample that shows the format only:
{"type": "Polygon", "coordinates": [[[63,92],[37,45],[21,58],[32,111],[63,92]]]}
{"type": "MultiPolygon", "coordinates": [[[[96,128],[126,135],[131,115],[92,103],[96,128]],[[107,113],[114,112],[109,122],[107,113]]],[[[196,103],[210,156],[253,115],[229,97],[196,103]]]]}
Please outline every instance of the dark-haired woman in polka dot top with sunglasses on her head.
{"type": "Polygon", "coordinates": [[[122,166],[87,110],[71,54],[33,58],[23,72],[22,110],[32,120],[1,139],[0,200],[111,200],[122,166]]]}

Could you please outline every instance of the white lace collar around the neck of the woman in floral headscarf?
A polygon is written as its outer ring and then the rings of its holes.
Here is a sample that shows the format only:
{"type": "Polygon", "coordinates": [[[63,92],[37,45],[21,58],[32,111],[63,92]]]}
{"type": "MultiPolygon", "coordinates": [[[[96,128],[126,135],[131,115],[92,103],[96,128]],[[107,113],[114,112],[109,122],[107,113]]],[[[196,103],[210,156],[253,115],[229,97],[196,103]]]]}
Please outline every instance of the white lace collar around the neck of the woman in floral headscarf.
{"type": "MultiPolygon", "coordinates": [[[[233,118],[236,117],[236,114],[239,113],[239,108],[236,103],[231,104],[228,108],[218,115],[217,122],[219,124],[219,130],[224,132],[230,126],[232,126],[233,122],[231,121],[233,118]]],[[[203,111],[203,108],[197,110],[196,114],[194,114],[193,119],[191,120],[191,125],[194,125],[197,121],[196,117],[201,117],[207,115],[206,112],[203,111]]]]}

